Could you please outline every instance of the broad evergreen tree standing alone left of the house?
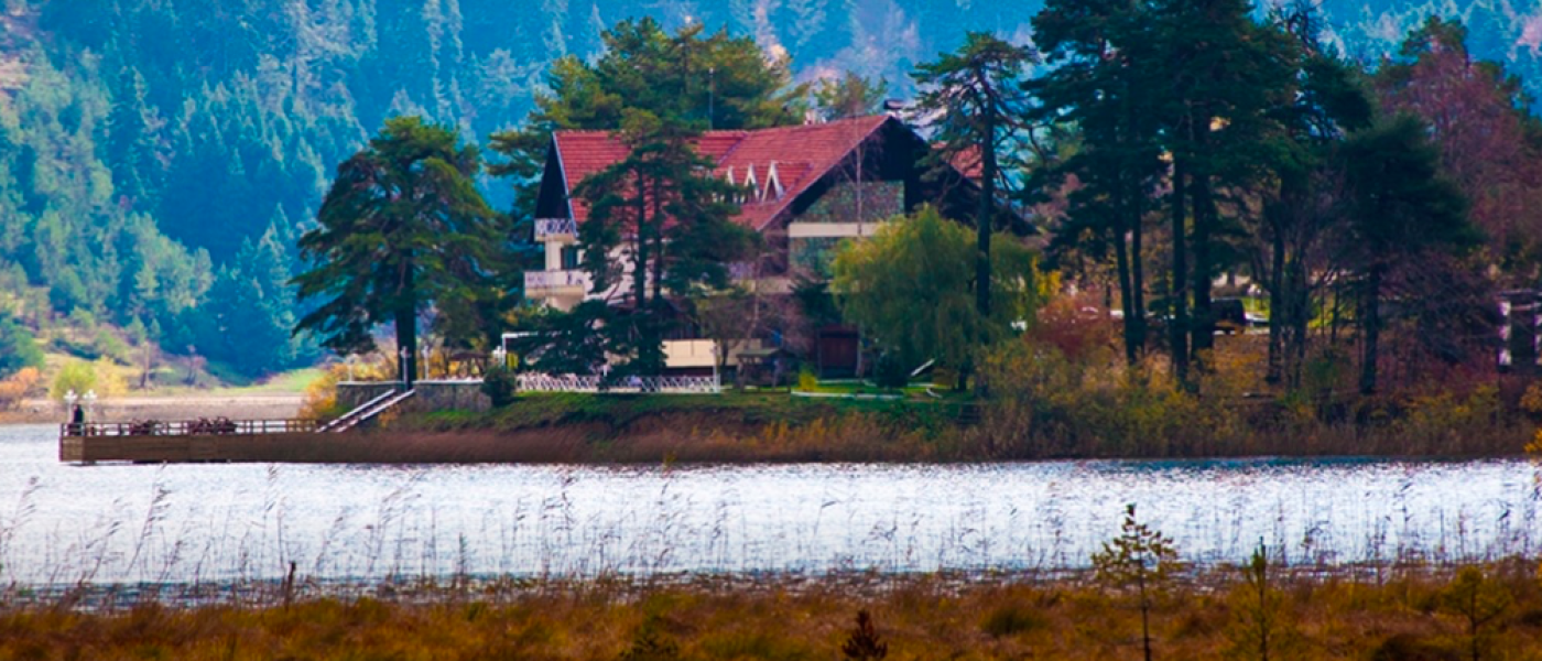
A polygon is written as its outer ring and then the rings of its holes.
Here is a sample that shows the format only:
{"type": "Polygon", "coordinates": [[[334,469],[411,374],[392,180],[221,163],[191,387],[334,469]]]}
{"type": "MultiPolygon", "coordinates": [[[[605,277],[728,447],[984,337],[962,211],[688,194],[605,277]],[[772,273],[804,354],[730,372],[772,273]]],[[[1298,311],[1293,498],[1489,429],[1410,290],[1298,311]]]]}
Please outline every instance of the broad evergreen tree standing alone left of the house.
{"type": "Polygon", "coordinates": [[[319,226],[299,240],[311,270],[295,277],[301,300],[322,304],[295,333],[364,353],[373,328],[392,322],[412,379],[418,313],[456,287],[484,287],[500,267],[503,230],[472,185],[481,159],[458,142],[453,129],[392,119],[338,166],[319,226]]]}

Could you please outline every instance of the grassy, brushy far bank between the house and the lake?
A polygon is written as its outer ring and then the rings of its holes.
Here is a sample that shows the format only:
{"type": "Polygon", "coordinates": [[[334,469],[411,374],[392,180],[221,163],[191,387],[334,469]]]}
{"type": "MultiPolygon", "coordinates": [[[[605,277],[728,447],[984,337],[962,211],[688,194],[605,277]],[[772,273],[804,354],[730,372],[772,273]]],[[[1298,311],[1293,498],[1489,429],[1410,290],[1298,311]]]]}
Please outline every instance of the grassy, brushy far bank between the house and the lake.
{"type": "MultiPolygon", "coordinates": [[[[1536,435],[1491,393],[1331,416],[1269,399],[1201,401],[1143,387],[982,404],[786,393],[521,394],[487,413],[387,421],[382,453],[466,447],[487,461],[788,462],[1516,456],[1536,435]]],[[[469,450],[469,451],[470,451],[469,450]]]]}

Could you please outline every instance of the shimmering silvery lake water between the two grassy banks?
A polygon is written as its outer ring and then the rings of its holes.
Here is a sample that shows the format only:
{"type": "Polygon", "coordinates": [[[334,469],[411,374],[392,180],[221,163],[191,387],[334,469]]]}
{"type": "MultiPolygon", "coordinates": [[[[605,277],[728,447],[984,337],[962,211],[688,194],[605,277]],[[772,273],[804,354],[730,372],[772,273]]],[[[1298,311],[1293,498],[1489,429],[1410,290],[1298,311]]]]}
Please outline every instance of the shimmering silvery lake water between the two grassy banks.
{"type": "Polygon", "coordinates": [[[66,465],[0,427],[0,584],[1086,567],[1126,504],[1192,562],[1533,555],[1522,459],[66,465]]]}

